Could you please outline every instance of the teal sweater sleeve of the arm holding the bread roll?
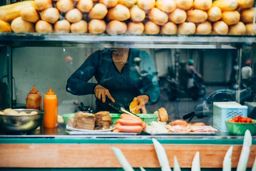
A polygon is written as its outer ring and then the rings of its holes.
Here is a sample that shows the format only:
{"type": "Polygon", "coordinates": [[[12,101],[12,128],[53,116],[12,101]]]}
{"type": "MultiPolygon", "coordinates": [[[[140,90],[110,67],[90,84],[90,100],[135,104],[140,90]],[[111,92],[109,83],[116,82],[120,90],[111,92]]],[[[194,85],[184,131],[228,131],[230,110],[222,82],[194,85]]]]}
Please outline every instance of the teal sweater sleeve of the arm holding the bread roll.
{"type": "Polygon", "coordinates": [[[147,52],[142,51],[140,53],[140,59],[143,59],[140,66],[143,80],[143,94],[149,96],[148,105],[150,105],[159,99],[160,88],[151,56],[147,52]]]}

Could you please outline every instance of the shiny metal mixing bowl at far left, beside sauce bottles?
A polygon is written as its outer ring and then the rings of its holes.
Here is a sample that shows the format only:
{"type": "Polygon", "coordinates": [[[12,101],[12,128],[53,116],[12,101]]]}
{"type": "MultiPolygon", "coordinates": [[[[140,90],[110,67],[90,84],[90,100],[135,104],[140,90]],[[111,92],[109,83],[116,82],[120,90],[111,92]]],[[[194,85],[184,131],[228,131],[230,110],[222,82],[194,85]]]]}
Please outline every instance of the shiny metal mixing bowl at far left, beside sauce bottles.
{"type": "Polygon", "coordinates": [[[1,129],[7,132],[29,132],[42,124],[45,111],[36,109],[14,109],[27,114],[2,115],[0,114],[1,129]],[[37,114],[30,114],[37,111],[37,114]]]}

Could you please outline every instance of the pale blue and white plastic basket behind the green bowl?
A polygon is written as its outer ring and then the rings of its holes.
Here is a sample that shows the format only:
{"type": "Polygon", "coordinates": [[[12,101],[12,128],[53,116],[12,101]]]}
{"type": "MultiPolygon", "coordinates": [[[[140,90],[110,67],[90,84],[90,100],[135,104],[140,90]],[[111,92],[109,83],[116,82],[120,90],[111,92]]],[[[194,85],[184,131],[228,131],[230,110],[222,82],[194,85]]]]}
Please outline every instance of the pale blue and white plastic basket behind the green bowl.
{"type": "Polygon", "coordinates": [[[248,107],[235,101],[213,102],[213,127],[228,132],[225,120],[235,116],[247,116],[248,107]]]}

